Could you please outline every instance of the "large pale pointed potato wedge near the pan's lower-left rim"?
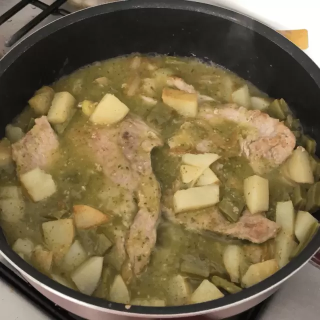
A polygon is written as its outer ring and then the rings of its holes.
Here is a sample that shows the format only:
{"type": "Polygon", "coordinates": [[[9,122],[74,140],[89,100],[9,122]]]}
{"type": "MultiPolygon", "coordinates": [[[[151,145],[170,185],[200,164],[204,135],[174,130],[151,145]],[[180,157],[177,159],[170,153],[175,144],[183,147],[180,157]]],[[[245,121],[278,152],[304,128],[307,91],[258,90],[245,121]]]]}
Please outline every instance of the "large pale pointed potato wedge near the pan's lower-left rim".
{"type": "Polygon", "coordinates": [[[71,274],[71,279],[80,292],[91,295],[101,277],[103,256],[91,256],[71,274]]]}

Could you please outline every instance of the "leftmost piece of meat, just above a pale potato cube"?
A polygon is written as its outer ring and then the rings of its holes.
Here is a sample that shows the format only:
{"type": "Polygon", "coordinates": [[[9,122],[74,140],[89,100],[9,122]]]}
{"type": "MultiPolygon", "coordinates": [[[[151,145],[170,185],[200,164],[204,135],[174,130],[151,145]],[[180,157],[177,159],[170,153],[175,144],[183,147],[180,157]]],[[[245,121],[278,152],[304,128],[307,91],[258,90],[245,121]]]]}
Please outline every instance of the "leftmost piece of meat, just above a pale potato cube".
{"type": "Polygon", "coordinates": [[[47,117],[41,116],[34,121],[34,126],[19,141],[12,144],[12,158],[18,174],[36,167],[49,167],[59,146],[58,138],[47,117]]]}

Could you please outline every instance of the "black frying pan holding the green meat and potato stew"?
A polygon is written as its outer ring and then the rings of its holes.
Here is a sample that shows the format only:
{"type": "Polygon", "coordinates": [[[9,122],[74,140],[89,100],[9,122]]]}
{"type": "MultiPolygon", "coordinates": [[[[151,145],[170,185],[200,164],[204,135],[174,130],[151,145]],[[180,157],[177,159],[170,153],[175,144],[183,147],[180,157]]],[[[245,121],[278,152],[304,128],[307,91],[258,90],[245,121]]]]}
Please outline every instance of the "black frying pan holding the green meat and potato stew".
{"type": "MultiPolygon", "coordinates": [[[[320,70],[315,63],[260,22],[227,9],[183,0],[126,0],[87,8],[27,37],[0,60],[2,134],[5,125],[41,85],[93,61],[131,52],[196,56],[230,69],[270,96],[283,97],[306,133],[320,141],[320,70]]],[[[127,308],[83,295],[49,279],[15,254],[0,231],[0,251],[38,290],[64,308],[95,320],[105,318],[107,313],[163,317],[212,312],[220,318],[229,316],[270,295],[319,246],[320,231],[274,275],[218,300],[127,308]]]]}

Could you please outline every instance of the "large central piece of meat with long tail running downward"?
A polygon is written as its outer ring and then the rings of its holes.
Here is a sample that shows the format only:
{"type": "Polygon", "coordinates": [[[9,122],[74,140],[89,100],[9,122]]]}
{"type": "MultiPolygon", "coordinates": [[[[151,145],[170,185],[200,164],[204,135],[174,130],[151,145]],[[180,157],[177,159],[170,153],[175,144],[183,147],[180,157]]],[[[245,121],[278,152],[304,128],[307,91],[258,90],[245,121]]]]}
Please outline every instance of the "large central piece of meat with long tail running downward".
{"type": "MultiPolygon", "coordinates": [[[[126,279],[130,278],[130,270],[139,274],[149,261],[156,238],[160,187],[152,172],[150,151],[162,140],[155,130],[133,115],[127,115],[112,127],[90,124],[69,131],[68,138],[77,151],[90,155],[107,179],[130,192],[126,199],[133,199],[133,193],[137,195],[138,210],[133,222],[128,224],[132,212],[128,213],[130,216],[122,216],[124,226],[129,227],[124,240],[129,264],[124,263],[123,268],[126,279]]],[[[107,192],[107,189],[102,192],[103,198],[107,192]]],[[[126,207],[135,207],[133,204],[126,207]]]]}

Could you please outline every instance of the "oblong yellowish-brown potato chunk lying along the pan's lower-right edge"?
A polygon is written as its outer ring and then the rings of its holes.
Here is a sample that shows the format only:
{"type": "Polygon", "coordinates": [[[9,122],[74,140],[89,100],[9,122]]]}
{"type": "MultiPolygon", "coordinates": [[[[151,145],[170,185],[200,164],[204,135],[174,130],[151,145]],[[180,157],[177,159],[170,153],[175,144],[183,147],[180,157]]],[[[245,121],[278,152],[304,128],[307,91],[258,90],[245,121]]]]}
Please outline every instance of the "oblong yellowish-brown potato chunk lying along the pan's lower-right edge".
{"type": "Polygon", "coordinates": [[[241,285],[246,288],[252,286],[266,279],[278,269],[276,259],[251,264],[241,279],[241,285]]]}

